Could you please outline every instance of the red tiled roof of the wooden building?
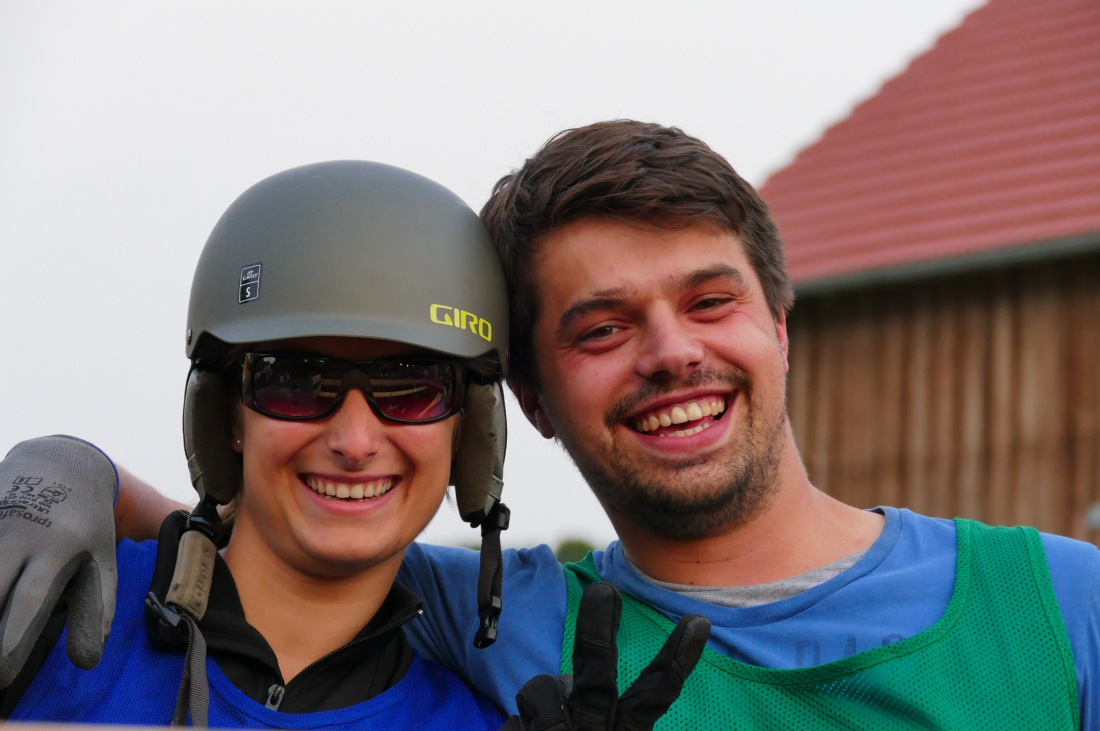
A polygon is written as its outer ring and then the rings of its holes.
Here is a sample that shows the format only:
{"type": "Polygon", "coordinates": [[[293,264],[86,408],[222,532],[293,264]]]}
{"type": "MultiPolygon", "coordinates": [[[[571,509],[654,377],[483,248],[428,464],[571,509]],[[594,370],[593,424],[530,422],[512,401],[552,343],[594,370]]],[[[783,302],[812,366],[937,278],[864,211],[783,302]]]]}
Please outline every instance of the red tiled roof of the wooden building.
{"type": "Polygon", "coordinates": [[[761,193],[796,285],[1100,242],[1100,0],[990,0],[761,193]]]}

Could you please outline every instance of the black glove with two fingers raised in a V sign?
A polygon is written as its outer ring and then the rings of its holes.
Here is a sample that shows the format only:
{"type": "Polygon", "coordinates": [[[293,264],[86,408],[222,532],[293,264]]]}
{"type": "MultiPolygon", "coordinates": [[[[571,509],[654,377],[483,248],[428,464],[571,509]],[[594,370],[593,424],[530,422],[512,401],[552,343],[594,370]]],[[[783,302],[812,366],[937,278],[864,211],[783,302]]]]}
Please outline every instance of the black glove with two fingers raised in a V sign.
{"type": "Polygon", "coordinates": [[[705,617],[684,617],[638,679],[619,696],[618,634],[623,598],[597,582],[576,616],[573,675],[539,675],[516,694],[519,716],[501,731],[649,731],[680,697],[711,635],[705,617]]]}

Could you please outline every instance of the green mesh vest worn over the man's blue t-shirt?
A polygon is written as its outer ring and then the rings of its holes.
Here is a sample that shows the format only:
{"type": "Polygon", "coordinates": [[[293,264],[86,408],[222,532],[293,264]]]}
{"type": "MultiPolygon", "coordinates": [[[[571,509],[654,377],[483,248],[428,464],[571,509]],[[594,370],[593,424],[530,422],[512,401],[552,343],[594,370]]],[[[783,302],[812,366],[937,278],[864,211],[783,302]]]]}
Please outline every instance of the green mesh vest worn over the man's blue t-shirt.
{"type": "MultiPolygon", "coordinates": [[[[658,731],[776,729],[1077,729],[1077,672],[1038,533],[958,520],[947,611],[933,627],[835,663],[774,669],[711,649],[658,731]]],[[[562,672],[576,610],[600,580],[590,554],[566,564],[562,672]]],[[[657,654],[673,623],[624,595],[619,689],[657,654]]]]}

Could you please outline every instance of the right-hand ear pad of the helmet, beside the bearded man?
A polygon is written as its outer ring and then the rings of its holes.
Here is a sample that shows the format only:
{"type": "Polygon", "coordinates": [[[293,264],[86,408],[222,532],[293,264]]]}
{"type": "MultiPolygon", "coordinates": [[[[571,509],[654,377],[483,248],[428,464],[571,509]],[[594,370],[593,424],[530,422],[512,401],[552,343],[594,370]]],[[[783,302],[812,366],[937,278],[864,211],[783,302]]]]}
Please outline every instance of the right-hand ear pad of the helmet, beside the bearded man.
{"type": "Polygon", "coordinates": [[[501,500],[507,432],[501,381],[469,381],[462,431],[451,462],[451,484],[459,514],[473,525],[479,525],[501,500]]]}

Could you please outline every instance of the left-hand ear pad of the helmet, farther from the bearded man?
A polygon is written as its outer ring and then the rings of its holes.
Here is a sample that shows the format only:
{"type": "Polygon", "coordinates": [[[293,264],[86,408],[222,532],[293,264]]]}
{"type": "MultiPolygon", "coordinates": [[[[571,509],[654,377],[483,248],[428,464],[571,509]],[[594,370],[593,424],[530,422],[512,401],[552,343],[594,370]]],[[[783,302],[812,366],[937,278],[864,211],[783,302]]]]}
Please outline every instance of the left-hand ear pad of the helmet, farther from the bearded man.
{"type": "Polygon", "coordinates": [[[210,497],[220,505],[233,499],[243,479],[227,394],[226,374],[191,366],[184,389],[184,453],[199,499],[210,497]]]}

